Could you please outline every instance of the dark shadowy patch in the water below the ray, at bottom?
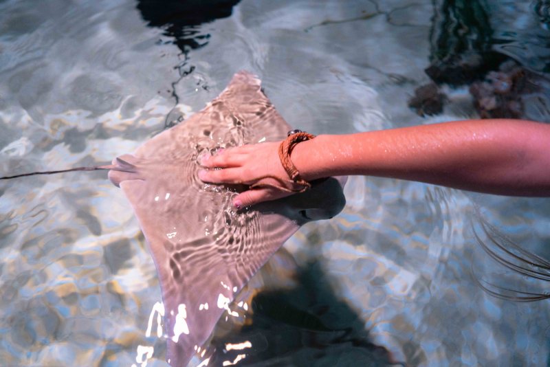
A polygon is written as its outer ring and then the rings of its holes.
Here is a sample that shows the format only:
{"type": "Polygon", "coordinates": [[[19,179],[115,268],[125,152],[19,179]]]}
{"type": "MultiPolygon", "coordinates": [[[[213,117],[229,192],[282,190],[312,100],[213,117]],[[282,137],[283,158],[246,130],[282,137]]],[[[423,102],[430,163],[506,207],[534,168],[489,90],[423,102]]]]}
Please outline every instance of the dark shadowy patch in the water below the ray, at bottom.
{"type": "Polygon", "coordinates": [[[300,269],[296,287],[260,292],[251,305],[250,320],[239,331],[212,340],[214,366],[235,360],[241,351],[224,347],[241,340],[254,345],[243,366],[309,366],[311,354],[322,366],[404,365],[370,341],[360,317],[327,287],[324,272],[314,263],[300,269]]]}

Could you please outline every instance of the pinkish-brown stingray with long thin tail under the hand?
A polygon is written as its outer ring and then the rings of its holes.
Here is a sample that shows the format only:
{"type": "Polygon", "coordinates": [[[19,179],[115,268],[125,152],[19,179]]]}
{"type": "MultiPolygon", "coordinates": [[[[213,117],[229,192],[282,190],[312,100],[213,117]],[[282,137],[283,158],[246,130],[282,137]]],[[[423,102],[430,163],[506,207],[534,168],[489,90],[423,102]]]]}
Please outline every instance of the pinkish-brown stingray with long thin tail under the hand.
{"type": "Polygon", "coordinates": [[[316,181],[306,192],[234,210],[245,188],[201,182],[199,159],[219,148],[278,141],[291,126],[274,109],[256,76],[241,71],[186,121],[159,133],[109,170],[131,204],[155,262],[164,305],[166,359],[186,366],[201,351],[236,293],[300,225],[328,219],[344,207],[346,179],[316,181]]]}

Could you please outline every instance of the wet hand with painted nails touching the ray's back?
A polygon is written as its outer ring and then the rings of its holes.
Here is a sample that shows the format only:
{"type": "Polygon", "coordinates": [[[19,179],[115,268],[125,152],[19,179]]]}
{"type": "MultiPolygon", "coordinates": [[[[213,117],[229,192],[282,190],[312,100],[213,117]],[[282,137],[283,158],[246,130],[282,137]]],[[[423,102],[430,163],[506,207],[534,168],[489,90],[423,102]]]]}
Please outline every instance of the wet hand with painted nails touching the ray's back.
{"type": "Polygon", "coordinates": [[[233,205],[243,208],[262,201],[287,197],[286,192],[273,186],[281,186],[274,178],[289,179],[278,156],[278,142],[260,143],[227,148],[216,155],[201,159],[202,166],[208,170],[199,171],[199,179],[209,183],[243,183],[248,186],[259,184],[263,187],[252,188],[236,195],[233,205]],[[218,169],[215,169],[218,168],[218,169]],[[221,169],[220,169],[221,168],[221,169]]]}

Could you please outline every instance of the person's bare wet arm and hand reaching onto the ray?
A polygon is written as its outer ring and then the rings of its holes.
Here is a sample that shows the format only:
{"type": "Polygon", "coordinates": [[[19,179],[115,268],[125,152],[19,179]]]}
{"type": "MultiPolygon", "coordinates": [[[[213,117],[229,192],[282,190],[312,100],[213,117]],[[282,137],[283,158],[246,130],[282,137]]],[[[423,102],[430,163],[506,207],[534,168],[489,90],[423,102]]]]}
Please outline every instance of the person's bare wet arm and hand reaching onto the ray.
{"type": "MultiPolygon", "coordinates": [[[[205,159],[203,181],[253,184],[287,177],[277,143],[254,144],[205,159]],[[268,179],[264,179],[268,180],[268,179]]],[[[297,144],[292,162],[307,181],[371,175],[514,196],[550,196],[550,125],[523,120],[465,120],[355,133],[320,135],[297,144]]],[[[286,196],[248,190],[234,203],[252,205],[286,196]]]]}

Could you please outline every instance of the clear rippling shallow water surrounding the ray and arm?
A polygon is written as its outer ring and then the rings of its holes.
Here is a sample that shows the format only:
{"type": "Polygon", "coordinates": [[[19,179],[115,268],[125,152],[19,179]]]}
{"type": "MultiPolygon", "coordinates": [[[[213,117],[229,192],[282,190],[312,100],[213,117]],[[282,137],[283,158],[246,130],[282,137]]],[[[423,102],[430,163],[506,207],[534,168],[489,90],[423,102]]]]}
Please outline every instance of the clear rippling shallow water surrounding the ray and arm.
{"type": "MultiPolygon", "coordinates": [[[[199,111],[239,69],[263,79],[290,124],[316,134],[475,115],[463,87],[434,118],[406,105],[428,82],[431,1],[242,1],[232,16],[196,26],[208,44],[180,44],[184,53],[136,5],[0,2],[0,172],[107,163],[199,111]]],[[[498,47],[545,71],[544,2],[489,8],[498,47]]],[[[544,103],[534,106],[533,118],[548,116],[544,103]]],[[[160,300],[155,268],[106,175],[19,179],[0,195],[3,364],[166,365],[164,340],[146,333],[160,300]]],[[[547,302],[498,300],[471,276],[472,263],[490,279],[505,272],[476,244],[473,203],[548,257],[548,199],[372,177],[351,178],[346,196],[342,214],[303,227],[243,291],[254,308],[248,323],[222,317],[212,345],[252,348],[217,361],[548,363],[547,302]]]]}

